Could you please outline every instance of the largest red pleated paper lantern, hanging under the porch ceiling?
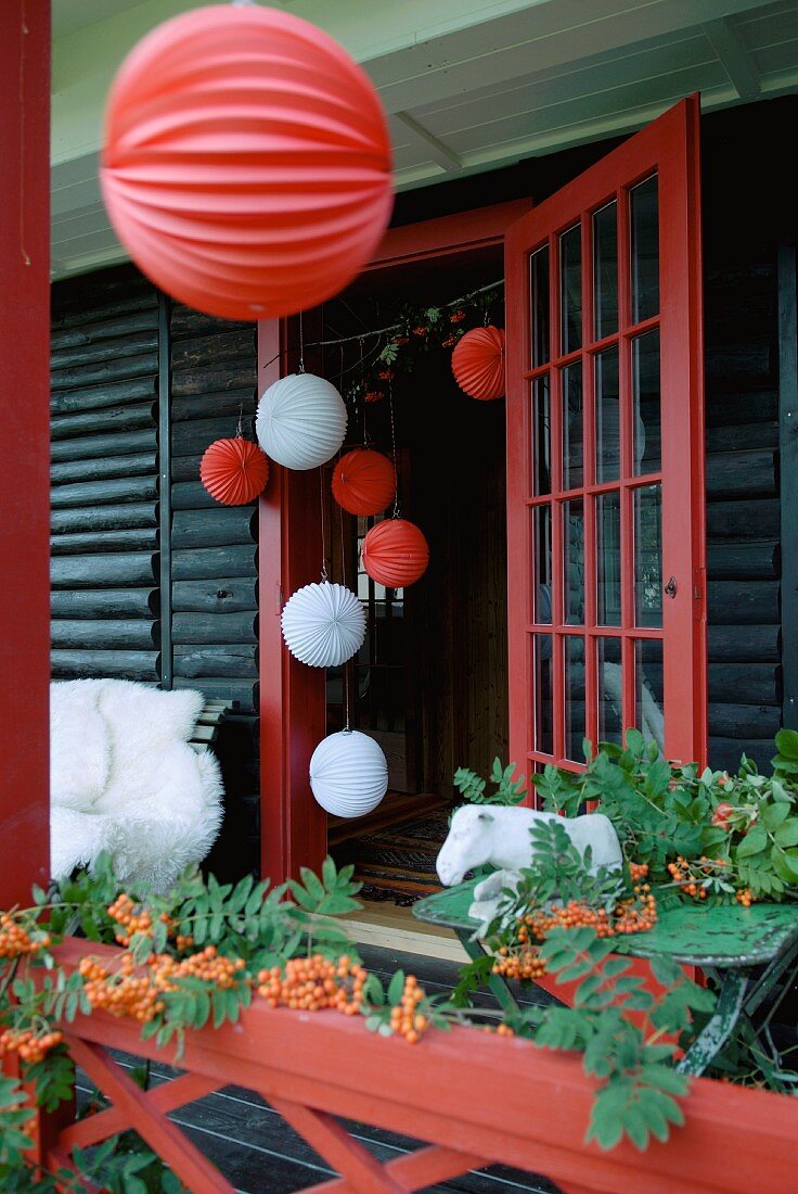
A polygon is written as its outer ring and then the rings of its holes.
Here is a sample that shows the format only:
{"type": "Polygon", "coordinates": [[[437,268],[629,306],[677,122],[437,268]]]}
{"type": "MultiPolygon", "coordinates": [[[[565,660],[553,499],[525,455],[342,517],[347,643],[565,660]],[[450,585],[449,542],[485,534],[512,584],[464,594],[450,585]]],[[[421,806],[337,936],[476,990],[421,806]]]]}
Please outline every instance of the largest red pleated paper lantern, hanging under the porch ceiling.
{"type": "Polygon", "coordinates": [[[272,319],[342,290],[388,223],[390,171],[369,76],[287,12],[174,17],[111,87],[111,223],[156,285],[211,315],[272,319]]]}

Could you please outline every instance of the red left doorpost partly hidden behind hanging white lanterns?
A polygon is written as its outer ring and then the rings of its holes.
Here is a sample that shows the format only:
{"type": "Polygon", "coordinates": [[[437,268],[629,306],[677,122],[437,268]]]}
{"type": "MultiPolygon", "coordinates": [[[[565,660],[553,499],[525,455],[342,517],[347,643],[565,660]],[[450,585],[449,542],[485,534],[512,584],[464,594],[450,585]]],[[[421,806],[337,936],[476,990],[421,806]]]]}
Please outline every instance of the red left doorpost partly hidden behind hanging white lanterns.
{"type": "MultiPolygon", "coordinates": [[[[285,373],[285,328],[258,327],[258,394],[285,373]]],[[[280,611],[291,593],[318,580],[318,469],[272,464],[260,499],[260,821],[261,874],[282,882],[299,864],[321,867],[327,814],[314,800],[310,756],[326,732],[324,671],[298,663],[283,644],[280,611]]]]}

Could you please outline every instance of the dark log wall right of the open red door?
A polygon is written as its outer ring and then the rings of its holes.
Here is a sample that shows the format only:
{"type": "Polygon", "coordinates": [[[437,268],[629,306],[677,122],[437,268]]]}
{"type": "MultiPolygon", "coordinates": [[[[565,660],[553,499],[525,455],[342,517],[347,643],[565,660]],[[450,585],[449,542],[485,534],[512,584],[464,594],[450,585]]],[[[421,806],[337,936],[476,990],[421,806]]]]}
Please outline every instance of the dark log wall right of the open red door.
{"type": "MultiPolygon", "coordinates": [[[[794,119],[794,104],[790,104],[794,119]]],[[[760,768],[781,725],[778,247],[794,210],[790,112],[757,104],[703,139],[710,762],[760,768]]],[[[798,481],[798,479],[796,479],[798,481]]],[[[794,482],[793,482],[794,484],[794,482]]]]}

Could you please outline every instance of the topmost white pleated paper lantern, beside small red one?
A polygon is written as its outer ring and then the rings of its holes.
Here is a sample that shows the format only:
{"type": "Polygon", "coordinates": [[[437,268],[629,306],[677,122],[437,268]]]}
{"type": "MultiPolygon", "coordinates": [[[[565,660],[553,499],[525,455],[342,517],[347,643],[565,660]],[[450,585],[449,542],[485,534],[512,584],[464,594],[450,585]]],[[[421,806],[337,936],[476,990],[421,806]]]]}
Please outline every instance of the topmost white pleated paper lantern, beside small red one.
{"type": "Polygon", "coordinates": [[[315,374],[289,374],[258,405],[255,433],[271,460],[286,468],[317,468],[346,437],[346,406],[335,387],[315,374]]]}

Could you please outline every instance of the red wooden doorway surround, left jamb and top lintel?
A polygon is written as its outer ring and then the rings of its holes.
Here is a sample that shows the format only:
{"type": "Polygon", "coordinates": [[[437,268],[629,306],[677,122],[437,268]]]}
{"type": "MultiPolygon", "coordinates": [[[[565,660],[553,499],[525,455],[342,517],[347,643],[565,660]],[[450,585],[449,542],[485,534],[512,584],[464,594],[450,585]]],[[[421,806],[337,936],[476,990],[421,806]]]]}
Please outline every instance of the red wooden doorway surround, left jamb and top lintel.
{"type": "MultiPolygon", "coordinates": [[[[530,201],[499,203],[389,228],[366,271],[390,270],[501,245],[530,201]]],[[[283,373],[289,349],[283,322],[258,326],[258,393],[283,373]]],[[[274,882],[299,866],[318,868],[327,853],[327,814],[308,782],[310,756],[326,733],[324,673],[305,667],[283,645],[280,610],[301,585],[318,579],[318,475],[272,466],[260,499],[259,663],[261,874],[274,882]]]]}

